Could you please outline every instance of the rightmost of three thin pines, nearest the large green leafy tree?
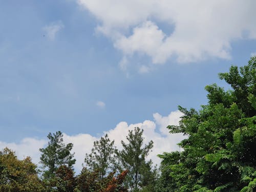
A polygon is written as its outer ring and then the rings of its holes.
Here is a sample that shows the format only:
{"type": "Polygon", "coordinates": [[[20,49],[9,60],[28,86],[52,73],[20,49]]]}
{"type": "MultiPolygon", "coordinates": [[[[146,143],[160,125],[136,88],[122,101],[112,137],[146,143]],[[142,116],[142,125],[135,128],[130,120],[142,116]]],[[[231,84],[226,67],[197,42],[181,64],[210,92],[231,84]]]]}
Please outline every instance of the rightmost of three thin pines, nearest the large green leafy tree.
{"type": "Polygon", "coordinates": [[[153,141],[143,147],[143,130],[135,127],[126,136],[128,143],[122,142],[123,150],[117,152],[120,159],[120,169],[127,169],[129,173],[126,177],[126,184],[132,191],[145,188],[155,180],[155,170],[152,170],[152,161],[146,161],[146,157],[153,147],[153,141]]]}

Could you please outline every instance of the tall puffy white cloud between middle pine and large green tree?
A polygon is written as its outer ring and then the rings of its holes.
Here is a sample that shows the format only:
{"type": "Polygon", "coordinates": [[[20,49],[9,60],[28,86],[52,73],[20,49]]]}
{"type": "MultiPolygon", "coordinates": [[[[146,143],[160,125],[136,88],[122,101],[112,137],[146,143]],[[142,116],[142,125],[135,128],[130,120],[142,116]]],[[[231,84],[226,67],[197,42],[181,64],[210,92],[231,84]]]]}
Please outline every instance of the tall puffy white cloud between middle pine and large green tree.
{"type": "Polygon", "coordinates": [[[160,164],[161,160],[157,157],[158,154],[170,151],[179,151],[180,148],[177,145],[182,139],[185,138],[183,134],[169,134],[166,129],[168,123],[172,125],[178,125],[180,116],[182,113],[179,111],[171,112],[167,117],[162,117],[158,113],[154,114],[154,121],[145,120],[142,123],[130,124],[126,122],[120,122],[117,126],[105,133],[108,133],[111,140],[115,140],[117,148],[122,148],[121,140],[127,141],[126,136],[129,130],[133,130],[134,127],[140,127],[144,130],[143,137],[144,143],[148,143],[151,140],[154,141],[154,147],[148,159],[152,159],[155,164],[160,164]]]}

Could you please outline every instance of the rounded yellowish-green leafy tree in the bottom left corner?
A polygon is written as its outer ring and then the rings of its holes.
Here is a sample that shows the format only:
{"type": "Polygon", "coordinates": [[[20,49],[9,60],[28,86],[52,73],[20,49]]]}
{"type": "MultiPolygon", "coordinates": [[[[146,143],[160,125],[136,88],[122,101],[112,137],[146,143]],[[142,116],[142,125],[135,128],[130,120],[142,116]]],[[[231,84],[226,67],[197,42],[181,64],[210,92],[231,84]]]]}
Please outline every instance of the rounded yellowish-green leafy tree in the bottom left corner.
{"type": "Polygon", "coordinates": [[[9,148],[0,151],[0,191],[45,191],[30,157],[18,160],[9,148]]]}

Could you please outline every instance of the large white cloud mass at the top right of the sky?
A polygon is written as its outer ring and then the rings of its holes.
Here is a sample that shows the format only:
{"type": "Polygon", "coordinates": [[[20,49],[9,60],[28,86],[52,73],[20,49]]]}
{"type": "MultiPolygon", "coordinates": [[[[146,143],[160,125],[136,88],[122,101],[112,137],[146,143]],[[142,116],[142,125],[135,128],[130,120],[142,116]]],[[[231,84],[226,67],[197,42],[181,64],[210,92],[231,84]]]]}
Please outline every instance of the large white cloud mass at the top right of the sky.
{"type": "Polygon", "coordinates": [[[155,64],[171,57],[178,62],[229,59],[233,40],[256,39],[253,0],[77,2],[98,19],[96,30],[111,38],[125,59],[134,53],[151,57],[155,64]],[[163,32],[159,23],[173,31],[163,32]]]}

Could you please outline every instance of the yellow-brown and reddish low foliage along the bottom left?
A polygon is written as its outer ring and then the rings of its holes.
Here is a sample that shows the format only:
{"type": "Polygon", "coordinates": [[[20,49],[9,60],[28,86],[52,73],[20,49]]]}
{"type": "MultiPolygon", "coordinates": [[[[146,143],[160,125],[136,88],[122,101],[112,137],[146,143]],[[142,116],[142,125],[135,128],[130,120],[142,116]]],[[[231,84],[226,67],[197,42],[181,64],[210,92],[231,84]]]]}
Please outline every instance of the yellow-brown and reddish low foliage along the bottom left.
{"type": "MultiPolygon", "coordinates": [[[[58,135],[60,136],[61,134],[58,135]]],[[[62,142],[61,139],[57,140],[62,142]]],[[[58,162],[61,162],[61,160],[58,160],[58,162]]],[[[55,169],[50,178],[41,180],[38,178],[36,165],[31,162],[30,157],[18,160],[14,152],[5,148],[3,151],[0,151],[0,191],[127,192],[123,182],[128,170],[124,170],[116,177],[114,177],[115,172],[111,172],[103,179],[99,179],[99,170],[91,172],[84,167],[81,173],[75,176],[70,165],[72,164],[63,163],[55,169]]]]}

